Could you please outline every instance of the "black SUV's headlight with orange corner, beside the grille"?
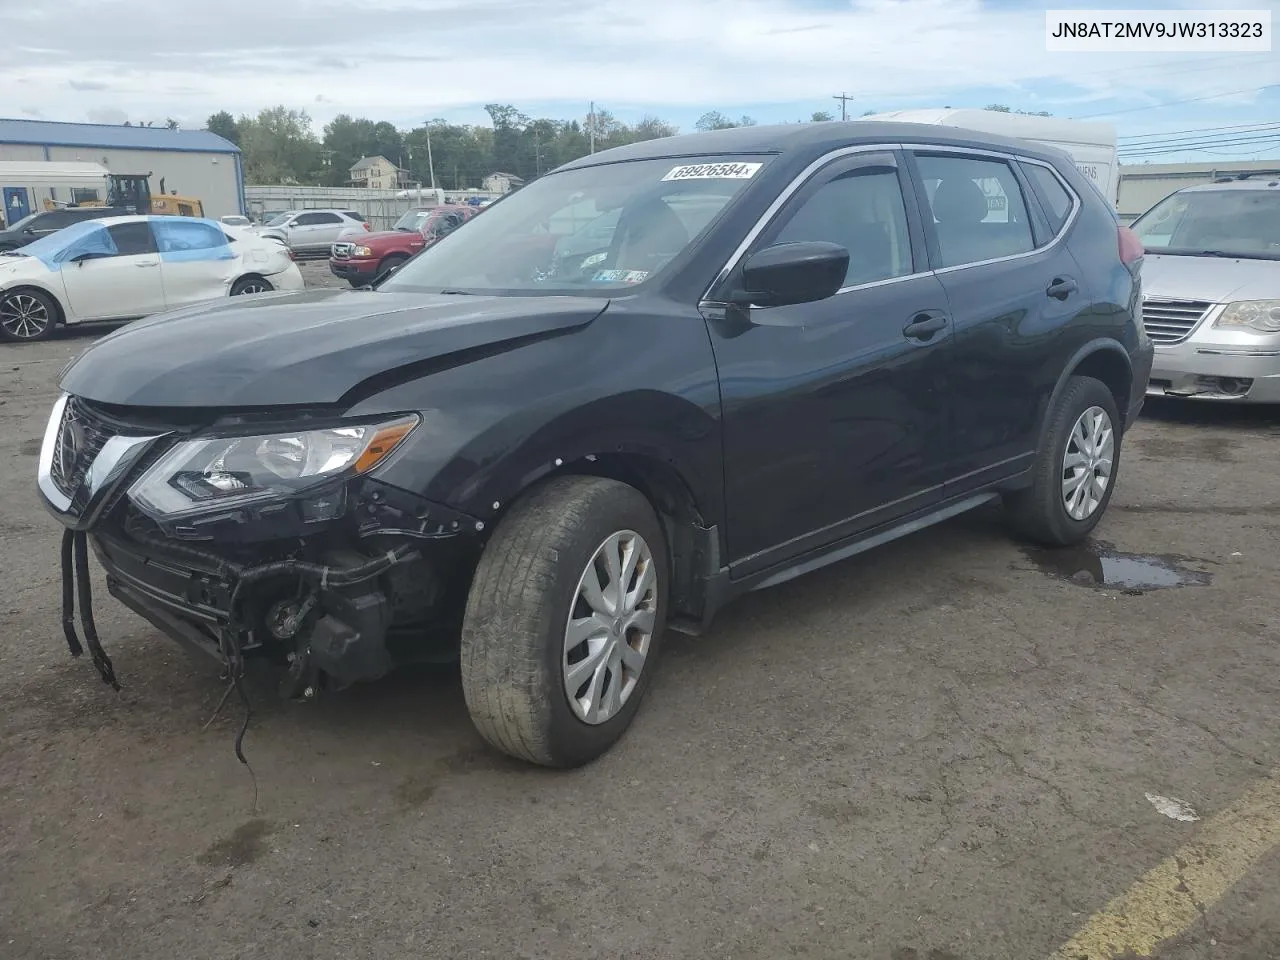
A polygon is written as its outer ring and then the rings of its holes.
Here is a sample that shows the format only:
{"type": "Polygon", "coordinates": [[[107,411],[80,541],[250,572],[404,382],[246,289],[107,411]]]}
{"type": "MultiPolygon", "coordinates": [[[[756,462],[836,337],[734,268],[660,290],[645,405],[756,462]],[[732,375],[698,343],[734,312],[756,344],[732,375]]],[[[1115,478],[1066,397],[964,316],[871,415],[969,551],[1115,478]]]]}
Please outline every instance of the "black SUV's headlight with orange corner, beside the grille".
{"type": "Polygon", "coordinates": [[[344,474],[367,474],[417,424],[419,417],[412,416],[266,436],[186,440],[138,477],[129,488],[129,499],[152,517],[174,520],[211,508],[296,497],[344,474]]]}

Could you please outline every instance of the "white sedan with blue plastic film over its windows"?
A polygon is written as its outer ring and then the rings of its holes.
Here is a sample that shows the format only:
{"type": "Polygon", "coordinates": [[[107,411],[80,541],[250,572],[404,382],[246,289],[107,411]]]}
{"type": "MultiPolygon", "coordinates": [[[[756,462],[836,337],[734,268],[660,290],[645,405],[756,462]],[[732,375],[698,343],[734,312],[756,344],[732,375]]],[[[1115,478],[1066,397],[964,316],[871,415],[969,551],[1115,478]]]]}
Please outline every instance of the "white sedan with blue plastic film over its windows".
{"type": "Polygon", "coordinates": [[[0,339],[302,288],[288,248],[243,228],[195,216],[87,220],[0,253],[0,339]]]}

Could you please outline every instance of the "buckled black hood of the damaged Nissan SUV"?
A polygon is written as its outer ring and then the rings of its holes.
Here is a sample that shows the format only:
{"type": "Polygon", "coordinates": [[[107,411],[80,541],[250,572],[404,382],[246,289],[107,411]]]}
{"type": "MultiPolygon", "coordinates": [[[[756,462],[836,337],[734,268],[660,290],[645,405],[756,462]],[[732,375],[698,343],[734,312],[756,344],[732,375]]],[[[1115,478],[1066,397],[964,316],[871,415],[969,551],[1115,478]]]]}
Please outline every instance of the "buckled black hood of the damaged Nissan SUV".
{"type": "Polygon", "coordinates": [[[333,404],[403,367],[515,348],[584,326],[607,307],[581,297],[335,289],[236,297],[116,330],[64,370],[61,388],[125,406],[333,404]]]}

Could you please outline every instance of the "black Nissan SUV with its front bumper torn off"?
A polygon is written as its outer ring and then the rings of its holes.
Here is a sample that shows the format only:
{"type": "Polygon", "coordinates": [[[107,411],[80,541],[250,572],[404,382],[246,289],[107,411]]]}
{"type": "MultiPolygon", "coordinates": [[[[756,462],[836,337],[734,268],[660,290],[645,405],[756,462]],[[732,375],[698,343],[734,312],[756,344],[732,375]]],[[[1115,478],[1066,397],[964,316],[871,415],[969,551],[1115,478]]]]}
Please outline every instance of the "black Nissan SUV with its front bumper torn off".
{"type": "Polygon", "coordinates": [[[584,763],[664,625],[997,499],[1084,538],[1151,369],[1142,253],[1065,154],[965,131],[584,157],[376,289],[180,310],[73,362],[38,476],[68,644],[78,596],[114,682],[91,544],[232,682],[458,657],[492,744],[584,763]]]}

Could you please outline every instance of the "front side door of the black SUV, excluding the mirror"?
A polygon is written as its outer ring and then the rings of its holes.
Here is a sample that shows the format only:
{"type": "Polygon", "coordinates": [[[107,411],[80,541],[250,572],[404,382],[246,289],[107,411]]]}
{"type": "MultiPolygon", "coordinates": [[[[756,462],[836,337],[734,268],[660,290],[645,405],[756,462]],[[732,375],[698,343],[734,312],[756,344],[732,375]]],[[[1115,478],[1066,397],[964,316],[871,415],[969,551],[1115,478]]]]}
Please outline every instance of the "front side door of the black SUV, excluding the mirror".
{"type": "Polygon", "coordinates": [[[909,192],[892,151],[827,164],[749,253],[838,243],[850,251],[845,287],[815,303],[751,307],[749,324],[733,311],[709,320],[735,576],[941,498],[951,330],[909,192]]]}

